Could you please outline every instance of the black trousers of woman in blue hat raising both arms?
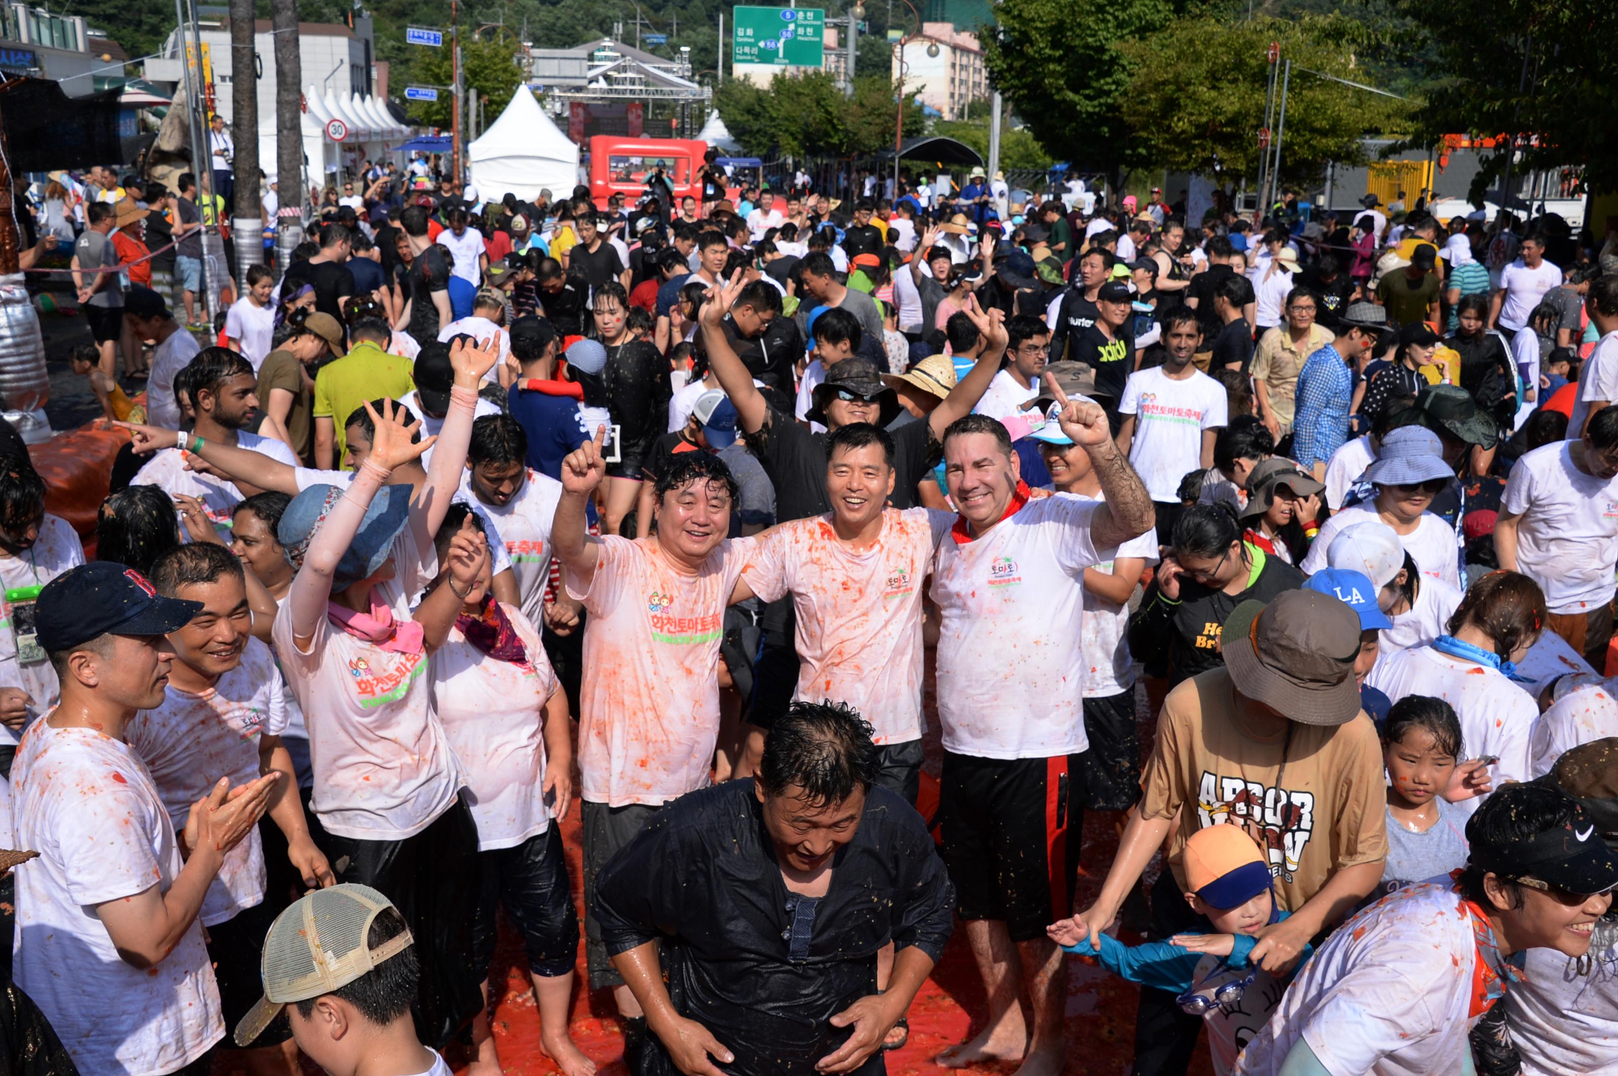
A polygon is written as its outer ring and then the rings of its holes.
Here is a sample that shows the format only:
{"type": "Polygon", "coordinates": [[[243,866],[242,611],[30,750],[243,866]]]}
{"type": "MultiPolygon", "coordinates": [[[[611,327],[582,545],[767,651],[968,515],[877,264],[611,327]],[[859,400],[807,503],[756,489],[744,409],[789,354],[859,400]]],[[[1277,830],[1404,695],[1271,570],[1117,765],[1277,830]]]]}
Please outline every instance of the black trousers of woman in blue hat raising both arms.
{"type": "Polygon", "coordinates": [[[421,964],[421,984],[411,1006],[416,1037],[443,1050],[484,1003],[479,987],[487,968],[472,968],[477,824],[471,807],[456,799],[427,828],[404,840],[324,833],[317,843],[338,882],[379,890],[416,935],[421,964]]]}

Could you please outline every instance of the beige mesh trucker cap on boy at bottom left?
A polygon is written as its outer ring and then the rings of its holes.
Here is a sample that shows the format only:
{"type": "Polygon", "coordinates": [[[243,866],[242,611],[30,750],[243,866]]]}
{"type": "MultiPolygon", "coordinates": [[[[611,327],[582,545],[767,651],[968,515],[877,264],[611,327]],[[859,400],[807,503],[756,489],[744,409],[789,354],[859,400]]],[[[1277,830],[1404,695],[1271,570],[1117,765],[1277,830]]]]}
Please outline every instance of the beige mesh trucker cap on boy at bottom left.
{"type": "Polygon", "coordinates": [[[333,885],[306,893],[275,917],[264,938],[264,997],[236,1024],[248,1047],[290,1002],[332,993],[411,945],[406,929],[377,948],[366,938],[377,913],[393,903],[369,885],[333,885]]]}

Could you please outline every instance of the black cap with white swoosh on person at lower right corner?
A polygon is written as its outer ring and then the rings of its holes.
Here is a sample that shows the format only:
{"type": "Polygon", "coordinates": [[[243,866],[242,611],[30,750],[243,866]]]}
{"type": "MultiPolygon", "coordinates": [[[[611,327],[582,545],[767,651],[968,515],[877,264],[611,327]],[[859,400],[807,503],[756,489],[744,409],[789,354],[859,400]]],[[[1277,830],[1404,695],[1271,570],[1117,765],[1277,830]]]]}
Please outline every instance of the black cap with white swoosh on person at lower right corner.
{"type": "Polygon", "coordinates": [[[1466,824],[1466,841],[1471,845],[1471,866],[1524,885],[1540,882],[1579,896],[1605,893],[1618,885],[1618,856],[1607,846],[1584,804],[1560,786],[1545,788],[1535,782],[1497,790],[1466,824]],[[1547,793],[1558,801],[1547,803],[1547,793]],[[1527,837],[1490,840],[1489,830],[1497,827],[1479,824],[1485,812],[1510,811],[1516,817],[1523,811],[1532,817],[1550,814],[1547,807],[1558,809],[1560,819],[1527,837]]]}

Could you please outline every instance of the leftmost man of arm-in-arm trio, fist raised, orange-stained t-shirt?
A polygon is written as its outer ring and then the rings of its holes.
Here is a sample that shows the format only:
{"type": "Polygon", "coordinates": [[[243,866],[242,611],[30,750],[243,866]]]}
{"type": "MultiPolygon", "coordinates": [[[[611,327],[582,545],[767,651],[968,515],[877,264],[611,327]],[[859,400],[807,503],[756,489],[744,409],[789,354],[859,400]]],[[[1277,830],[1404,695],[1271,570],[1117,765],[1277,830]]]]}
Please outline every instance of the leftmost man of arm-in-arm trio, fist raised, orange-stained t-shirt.
{"type": "Polygon", "coordinates": [[[659,477],[655,537],[589,536],[586,503],[607,472],[600,448],[597,432],[561,461],[550,539],[568,595],[589,612],[579,798],[591,985],[613,987],[618,1013],[644,1034],[591,911],[595,877],[659,807],[709,783],[725,607],[751,550],[725,539],[736,481],[705,451],[680,453],[659,477]]]}

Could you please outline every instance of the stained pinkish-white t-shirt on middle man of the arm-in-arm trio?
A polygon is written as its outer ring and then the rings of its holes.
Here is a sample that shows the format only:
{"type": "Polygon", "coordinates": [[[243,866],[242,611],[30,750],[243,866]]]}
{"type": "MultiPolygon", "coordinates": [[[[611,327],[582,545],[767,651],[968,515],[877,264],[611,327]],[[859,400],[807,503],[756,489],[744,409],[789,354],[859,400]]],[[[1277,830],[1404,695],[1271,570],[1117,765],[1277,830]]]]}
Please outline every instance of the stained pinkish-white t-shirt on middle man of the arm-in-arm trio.
{"type": "Polygon", "coordinates": [[[828,515],[759,536],[741,576],[765,602],[793,595],[803,659],[794,699],[846,702],[879,744],[921,738],[921,604],[953,523],[947,511],[888,508],[864,550],[840,542],[828,515]]]}

